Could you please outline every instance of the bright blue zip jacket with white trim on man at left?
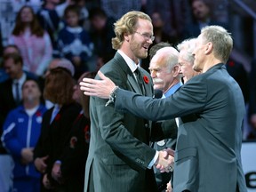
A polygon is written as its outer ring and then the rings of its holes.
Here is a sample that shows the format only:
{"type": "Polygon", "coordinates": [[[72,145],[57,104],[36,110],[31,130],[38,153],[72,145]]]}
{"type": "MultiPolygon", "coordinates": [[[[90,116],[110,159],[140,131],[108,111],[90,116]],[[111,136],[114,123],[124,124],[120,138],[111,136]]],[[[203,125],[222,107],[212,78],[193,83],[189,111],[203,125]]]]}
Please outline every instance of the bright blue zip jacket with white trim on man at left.
{"type": "Polygon", "coordinates": [[[33,162],[20,163],[22,148],[35,148],[41,133],[41,123],[46,108],[40,105],[33,116],[28,116],[23,106],[13,109],[5,119],[4,132],[1,140],[4,147],[11,153],[15,166],[14,178],[30,176],[40,177],[33,162]]]}

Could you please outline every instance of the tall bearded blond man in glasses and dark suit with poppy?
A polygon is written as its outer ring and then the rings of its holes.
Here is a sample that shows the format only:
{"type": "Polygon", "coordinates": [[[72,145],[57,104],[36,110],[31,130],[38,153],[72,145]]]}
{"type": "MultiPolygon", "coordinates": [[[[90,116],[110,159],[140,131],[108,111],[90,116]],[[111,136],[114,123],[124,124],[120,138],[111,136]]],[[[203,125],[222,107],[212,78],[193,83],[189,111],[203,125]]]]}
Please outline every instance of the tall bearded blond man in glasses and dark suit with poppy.
{"type": "MultiPolygon", "coordinates": [[[[140,68],[140,59],[147,57],[154,40],[150,18],[143,12],[127,12],[116,21],[115,33],[116,55],[100,70],[120,87],[152,98],[152,79],[140,68]]],[[[152,166],[169,167],[172,157],[164,159],[166,152],[148,146],[151,130],[147,120],[116,113],[107,101],[90,100],[91,141],[84,191],[157,191],[152,166]]]]}

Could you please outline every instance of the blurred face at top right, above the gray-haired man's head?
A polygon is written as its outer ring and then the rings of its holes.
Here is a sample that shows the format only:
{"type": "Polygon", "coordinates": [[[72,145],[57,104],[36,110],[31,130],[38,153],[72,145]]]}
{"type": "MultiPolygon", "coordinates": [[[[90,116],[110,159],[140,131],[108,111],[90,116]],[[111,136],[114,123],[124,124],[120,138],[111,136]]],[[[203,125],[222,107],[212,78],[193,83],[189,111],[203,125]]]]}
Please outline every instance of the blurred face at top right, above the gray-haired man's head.
{"type": "Polygon", "coordinates": [[[192,12],[197,20],[205,20],[209,17],[209,7],[202,1],[194,1],[192,4],[192,12]]]}

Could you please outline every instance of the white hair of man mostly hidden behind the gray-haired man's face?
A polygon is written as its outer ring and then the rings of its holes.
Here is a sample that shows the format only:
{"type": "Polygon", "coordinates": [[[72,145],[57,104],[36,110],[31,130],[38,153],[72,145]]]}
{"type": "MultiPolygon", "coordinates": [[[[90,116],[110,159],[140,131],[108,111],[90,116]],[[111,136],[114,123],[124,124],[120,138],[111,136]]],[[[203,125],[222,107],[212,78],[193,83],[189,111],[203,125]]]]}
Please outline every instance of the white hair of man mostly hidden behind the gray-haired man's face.
{"type": "Polygon", "coordinates": [[[179,52],[185,51],[184,54],[184,60],[187,60],[190,63],[194,63],[194,56],[193,56],[193,52],[196,48],[196,38],[190,38],[190,39],[185,39],[184,41],[182,41],[180,44],[177,45],[177,48],[179,50],[179,52]]]}

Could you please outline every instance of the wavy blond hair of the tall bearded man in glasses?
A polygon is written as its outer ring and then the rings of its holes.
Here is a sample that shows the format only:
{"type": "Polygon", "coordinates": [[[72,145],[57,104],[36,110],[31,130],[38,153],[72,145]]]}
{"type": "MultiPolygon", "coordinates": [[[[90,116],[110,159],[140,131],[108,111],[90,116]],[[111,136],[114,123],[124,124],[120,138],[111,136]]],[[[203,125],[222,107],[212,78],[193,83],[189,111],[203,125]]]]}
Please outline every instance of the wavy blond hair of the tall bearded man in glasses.
{"type": "Polygon", "coordinates": [[[112,47],[118,50],[124,42],[124,33],[132,34],[136,30],[136,24],[138,19],[149,20],[151,22],[148,14],[144,12],[127,12],[122,18],[114,23],[114,31],[116,34],[115,38],[112,38],[112,47]]]}

